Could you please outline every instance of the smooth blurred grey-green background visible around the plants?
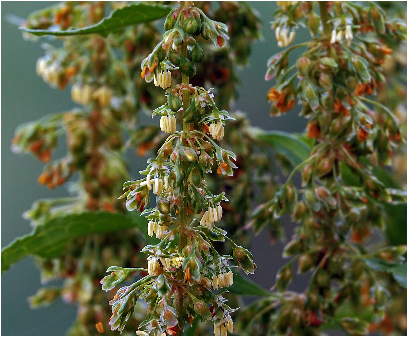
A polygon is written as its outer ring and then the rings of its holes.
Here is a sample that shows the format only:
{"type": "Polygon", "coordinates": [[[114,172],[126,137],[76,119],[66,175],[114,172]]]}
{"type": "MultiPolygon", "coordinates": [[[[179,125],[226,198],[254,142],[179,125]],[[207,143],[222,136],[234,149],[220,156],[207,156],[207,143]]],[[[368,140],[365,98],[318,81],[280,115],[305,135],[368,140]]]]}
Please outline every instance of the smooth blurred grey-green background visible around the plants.
{"type": "MultiPolygon", "coordinates": [[[[34,10],[55,3],[53,1],[2,1],[1,2],[1,246],[9,244],[14,238],[31,231],[29,222],[21,214],[40,198],[66,196],[65,187],[49,190],[38,185],[37,177],[43,164],[31,155],[11,153],[10,145],[14,130],[26,121],[68,110],[73,107],[69,88],[54,90],[35,74],[35,62],[43,55],[41,43],[24,41],[21,32],[5,19],[8,14],[26,18],[34,10]]],[[[250,65],[239,71],[242,81],[240,97],[234,109],[247,112],[255,126],[267,130],[300,132],[305,121],[297,117],[299,109],[282,117],[269,117],[269,104],[266,93],[271,82],[264,81],[267,59],[278,52],[273,31],[269,22],[276,9],[272,1],[252,1],[251,5],[259,11],[263,22],[264,41],[253,46],[250,65]]],[[[300,42],[309,38],[304,32],[296,37],[300,42]]],[[[296,42],[295,41],[295,42],[296,42]]],[[[295,55],[293,55],[295,56],[295,55]]],[[[293,62],[294,59],[292,59],[293,62]]],[[[234,110],[233,109],[233,110],[234,110]]],[[[146,121],[149,120],[147,117],[146,121]]],[[[54,158],[65,153],[64,142],[54,158]]],[[[129,154],[133,176],[144,165],[133,154],[129,154]]],[[[291,235],[292,225],[286,224],[286,234],[291,235]]],[[[271,245],[268,235],[263,232],[254,238],[251,251],[259,269],[253,280],[269,289],[275,281],[276,271],[282,266],[282,243],[271,245]]],[[[58,285],[59,282],[53,282],[58,285]]],[[[35,311],[29,308],[27,297],[40,288],[39,271],[33,258],[26,258],[4,273],[1,278],[1,335],[63,335],[75,317],[75,306],[58,300],[48,308],[35,311]]],[[[293,290],[302,291],[304,282],[297,280],[293,290]]]]}

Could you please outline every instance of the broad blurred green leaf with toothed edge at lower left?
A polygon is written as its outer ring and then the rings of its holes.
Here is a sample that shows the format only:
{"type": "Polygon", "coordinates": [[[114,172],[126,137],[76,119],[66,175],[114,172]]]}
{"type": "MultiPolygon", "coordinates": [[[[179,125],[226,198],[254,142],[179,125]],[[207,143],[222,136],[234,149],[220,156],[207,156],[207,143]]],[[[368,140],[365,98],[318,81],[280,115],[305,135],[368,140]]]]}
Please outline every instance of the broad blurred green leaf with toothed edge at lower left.
{"type": "Polygon", "coordinates": [[[31,234],[17,238],[2,249],[1,272],[7,271],[13,263],[28,255],[57,258],[65,245],[74,238],[132,227],[146,229],[147,219],[140,216],[131,218],[109,212],[84,212],[51,219],[35,227],[31,234]]]}

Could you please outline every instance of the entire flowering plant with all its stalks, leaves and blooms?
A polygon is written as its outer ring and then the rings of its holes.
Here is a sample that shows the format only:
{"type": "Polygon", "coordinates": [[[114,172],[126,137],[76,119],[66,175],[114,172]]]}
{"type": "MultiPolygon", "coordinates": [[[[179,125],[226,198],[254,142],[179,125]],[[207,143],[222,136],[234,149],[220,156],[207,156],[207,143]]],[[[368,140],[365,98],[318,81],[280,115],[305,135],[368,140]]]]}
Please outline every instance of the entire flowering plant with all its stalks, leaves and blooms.
{"type": "Polygon", "coordinates": [[[71,334],[406,330],[406,242],[390,227],[406,190],[385,169],[404,169],[406,24],[390,4],[277,3],[272,28],[286,49],[267,63],[266,97],[273,117],[302,105],[304,136],[228,112],[236,66],[261,37],[248,4],[65,2],[22,23],[29,38],[62,40],[36,70],[52,87],[72,84],[77,108],[20,126],[12,150],[46,163],[38,182],[49,189],[80,178],[74,197],[24,214],[34,231],[2,250],[2,271],[33,254],[44,282],[63,278],[30,303],[77,303],[71,334]],[[292,46],[299,26],[311,40],[292,46]],[[140,110],[155,124],[142,125],[140,110]],[[61,134],[68,153],[51,162],[61,134]],[[124,183],[128,148],[151,158],[124,183]],[[299,223],[283,252],[292,259],[266,291],[233,270],[255,272],[248,229],[282,239],[286,213],[299,223]],[[311,272],[303,293],[287,290],[296,263],[311,272]],[[261,297],[238,311],[238,295],[261,297]]]}

